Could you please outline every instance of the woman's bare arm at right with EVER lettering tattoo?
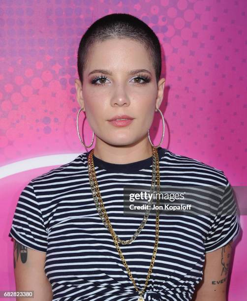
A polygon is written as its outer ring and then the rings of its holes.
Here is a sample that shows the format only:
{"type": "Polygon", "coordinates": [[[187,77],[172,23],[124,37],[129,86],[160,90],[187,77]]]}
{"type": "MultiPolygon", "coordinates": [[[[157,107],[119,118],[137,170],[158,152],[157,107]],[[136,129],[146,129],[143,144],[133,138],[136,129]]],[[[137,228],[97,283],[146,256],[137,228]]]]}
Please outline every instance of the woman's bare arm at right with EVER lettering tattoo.
{"type": "Polygon", "coordinates": [[[193,301],[226,301],[231,251],[232,241],[213,252],[206,253],[203,278],[193,301]]]}

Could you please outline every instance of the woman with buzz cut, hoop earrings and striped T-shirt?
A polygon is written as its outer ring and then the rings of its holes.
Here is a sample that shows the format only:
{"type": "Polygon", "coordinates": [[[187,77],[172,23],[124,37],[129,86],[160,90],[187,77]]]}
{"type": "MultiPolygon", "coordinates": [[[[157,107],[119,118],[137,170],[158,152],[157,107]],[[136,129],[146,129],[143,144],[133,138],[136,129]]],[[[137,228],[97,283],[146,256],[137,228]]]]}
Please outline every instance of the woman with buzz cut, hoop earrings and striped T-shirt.
{"type": "Polygon", "coordinates": [[[82,37],[77,126],[84,111],[95,147],[24,188],[9,234],[17,291],[43,301],[225,300],[239,230],[231,186],[223,171],[161,148],[163,135],[153,147],[160,72],[159,41],[134,16],[104,16],[82,37]],[[123,214],[123,189],[154,183],[221,185],[200,195],[217,214],[123,214]]]}

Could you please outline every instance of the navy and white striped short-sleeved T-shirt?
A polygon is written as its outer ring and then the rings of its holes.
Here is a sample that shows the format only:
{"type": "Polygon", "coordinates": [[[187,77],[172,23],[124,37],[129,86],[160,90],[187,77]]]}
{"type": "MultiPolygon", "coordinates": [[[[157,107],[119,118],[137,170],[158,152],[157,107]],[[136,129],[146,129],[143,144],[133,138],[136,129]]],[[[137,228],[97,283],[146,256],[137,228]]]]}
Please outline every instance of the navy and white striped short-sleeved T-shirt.
{"type": "MultiPolygon", "coordinates": [[[[46,253],[44,269],[52,284],[53,301],[137,301],[138,293],[94,205],[88,154],[28,183],[17,203],[9,237],[46,253]]],[[[232,212],[160,215],[158,250],[143,297],[145,301],[187,301],[202,279],[205,252],[224,246],[239,232],[236,203],[223,171],[164,148],[158,148],[158,154],[161,185],[222,185],[217,212],[226,207],[232,212]]],[[[93,159],[112,227],[121,239],[130,239],[142,215],[123,214],[123,187],[150,187],[152,157],[129,164],[93,159]]],[[[139,290],[146,281],[154,239],[153,214],[135,241],[120,244],[139,290]]]]}

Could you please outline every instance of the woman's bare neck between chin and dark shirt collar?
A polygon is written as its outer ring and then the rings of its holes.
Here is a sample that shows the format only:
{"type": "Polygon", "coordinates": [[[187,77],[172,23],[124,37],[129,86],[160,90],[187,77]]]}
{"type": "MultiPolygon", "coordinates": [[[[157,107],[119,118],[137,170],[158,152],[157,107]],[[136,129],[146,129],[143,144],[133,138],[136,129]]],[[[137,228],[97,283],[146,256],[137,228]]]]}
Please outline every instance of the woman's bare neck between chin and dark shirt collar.
{"type": "Polygon", "coordinates": [[[105,162],[128,164],[152,157],[153,149],[146,137],[135,144],[123,146],[107,144],[96,137],[93,154],[105,162]]]}

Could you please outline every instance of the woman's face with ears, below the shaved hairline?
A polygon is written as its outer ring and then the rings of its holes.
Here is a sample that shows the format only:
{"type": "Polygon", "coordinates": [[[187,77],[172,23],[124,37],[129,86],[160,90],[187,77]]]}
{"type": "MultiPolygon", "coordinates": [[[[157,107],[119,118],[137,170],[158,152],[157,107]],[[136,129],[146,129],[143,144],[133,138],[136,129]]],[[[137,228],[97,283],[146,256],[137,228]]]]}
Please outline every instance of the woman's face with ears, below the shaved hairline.
{"type": "Polygon", "coordinates": [[[141,43],[114,38],[94,44],[83,73],[83,85],[76,79],[75,86],[77,100],[96,139],[126,146],[145,136],[148,139],[164,84],[165,79],[160,79],[157,87],[154,67],[141,43]],[[133,72],[140,69],[143,71],[133,72]],[[128,115],[132,120],[125,126],[116,126],[109,121],[116,115],[128,115]]]}

